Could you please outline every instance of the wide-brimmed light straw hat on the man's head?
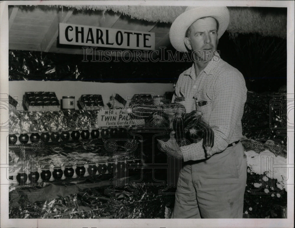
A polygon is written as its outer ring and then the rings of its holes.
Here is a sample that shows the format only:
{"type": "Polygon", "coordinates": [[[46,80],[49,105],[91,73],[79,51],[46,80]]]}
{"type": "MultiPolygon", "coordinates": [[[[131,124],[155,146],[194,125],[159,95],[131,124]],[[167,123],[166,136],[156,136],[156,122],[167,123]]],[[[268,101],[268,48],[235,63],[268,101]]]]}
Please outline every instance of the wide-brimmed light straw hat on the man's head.
{"type": "Polygon", "coordinates": [[[227,29],[228,23],[230,22],[228,9],[226,7],[188,6],[171,25],[169,37],[172,46],[176,50],[186,52],[187,49],[184,44],[186,30],[196,20],[207,16],[211,16],[219,22],[219,29],[217,31],[217,39],[219,39],[227,29]]]}

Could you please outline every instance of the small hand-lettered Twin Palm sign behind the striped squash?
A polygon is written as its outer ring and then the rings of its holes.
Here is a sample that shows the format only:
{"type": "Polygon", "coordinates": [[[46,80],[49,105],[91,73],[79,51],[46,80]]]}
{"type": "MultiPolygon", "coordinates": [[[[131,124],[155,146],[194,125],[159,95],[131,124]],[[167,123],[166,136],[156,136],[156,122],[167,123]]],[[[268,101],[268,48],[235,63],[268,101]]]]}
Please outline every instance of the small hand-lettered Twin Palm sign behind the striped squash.
{"type": "Polygon", "coordinates": [[[116,127],[138,125],[144,120],[134,120],[123,109],[100,110],[97,115],[97,127],[116,127]]]}

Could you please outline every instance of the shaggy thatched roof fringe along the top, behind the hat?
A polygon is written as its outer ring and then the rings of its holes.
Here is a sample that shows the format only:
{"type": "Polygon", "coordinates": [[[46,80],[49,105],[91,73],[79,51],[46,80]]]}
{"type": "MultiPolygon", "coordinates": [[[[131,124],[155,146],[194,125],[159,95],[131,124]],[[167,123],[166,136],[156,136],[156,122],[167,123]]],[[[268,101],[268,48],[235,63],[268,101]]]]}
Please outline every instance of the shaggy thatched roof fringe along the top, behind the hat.
{"type": "MultiPolygon", "coordinates": [[[[99,10],[119,12],[133,19],[149,22],[172,23],[184,12],[186,6],[118,6],[118,5],[53,5],[77,10],[99,10]]],[[[230,24],[227,31],[235,36],[238,33],[258,33],[262,36],[286,38],[287,9],[275,7],[228,7],[230,24]]]]}

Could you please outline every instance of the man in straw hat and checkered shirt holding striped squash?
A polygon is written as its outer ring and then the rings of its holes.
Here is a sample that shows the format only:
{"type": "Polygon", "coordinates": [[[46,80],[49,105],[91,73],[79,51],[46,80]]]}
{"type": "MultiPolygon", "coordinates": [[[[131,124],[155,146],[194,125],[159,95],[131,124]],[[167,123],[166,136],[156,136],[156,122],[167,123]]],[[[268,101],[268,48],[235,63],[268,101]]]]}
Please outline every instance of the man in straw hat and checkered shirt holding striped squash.
{"type": "Polygon", "coordinates": [[[242,218],[247,161],[239,139],[247,88],[243,75],[216,52],[229,19],[226,7],[187,7],[170,29],[173,47],[193,59],[178,78],[173,101],[183,97],[187,113],[201,111],[215,136],[208,158],[203,140],[178,147],[170,134],[170,150],[184,160],[173,218],[242,218]]]}

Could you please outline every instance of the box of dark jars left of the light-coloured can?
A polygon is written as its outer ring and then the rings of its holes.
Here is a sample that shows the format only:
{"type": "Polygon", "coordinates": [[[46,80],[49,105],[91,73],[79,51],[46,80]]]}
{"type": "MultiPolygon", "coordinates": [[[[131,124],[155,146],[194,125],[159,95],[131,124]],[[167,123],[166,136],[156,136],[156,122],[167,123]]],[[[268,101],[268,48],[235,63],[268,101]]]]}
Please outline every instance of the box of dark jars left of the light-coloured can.
{"type": "Polygon", "coordinates": [[[55,92],[25,92],[24,107],[32,112],[59,111],[60,102],[55,92]]]}

